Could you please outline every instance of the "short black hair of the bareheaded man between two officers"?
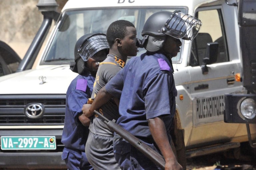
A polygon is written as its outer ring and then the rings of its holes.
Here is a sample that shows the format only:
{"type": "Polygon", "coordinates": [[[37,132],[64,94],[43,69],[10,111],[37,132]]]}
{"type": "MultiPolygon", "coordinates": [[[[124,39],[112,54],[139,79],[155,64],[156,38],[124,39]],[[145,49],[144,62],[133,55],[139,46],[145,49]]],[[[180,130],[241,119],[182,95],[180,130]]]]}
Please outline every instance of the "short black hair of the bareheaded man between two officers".
{"type": "Polygon", "coordinates": [[[134,27],[134,25],[126,20],[117,20],[109,25],[106,38],[110,48],[115,43],[116,38],[123,39],[125,37],[126,27],[134,27]]]}

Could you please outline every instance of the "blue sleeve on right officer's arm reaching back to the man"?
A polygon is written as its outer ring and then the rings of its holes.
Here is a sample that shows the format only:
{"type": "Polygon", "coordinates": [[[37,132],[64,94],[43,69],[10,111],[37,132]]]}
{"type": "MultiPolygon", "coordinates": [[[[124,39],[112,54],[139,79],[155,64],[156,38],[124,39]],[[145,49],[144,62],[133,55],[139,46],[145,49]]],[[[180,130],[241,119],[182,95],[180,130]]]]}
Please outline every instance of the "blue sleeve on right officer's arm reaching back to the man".
{"type": "Polygon", "coordinates": [[[120,70],[113,79],[111,79],[105,86],[107,92],[109,92],[112,96],[116,98],[121,97],[121,93],[123,90],[124,86],[124,81],[123,81],[123,72],[124,69],[120,70]]]}

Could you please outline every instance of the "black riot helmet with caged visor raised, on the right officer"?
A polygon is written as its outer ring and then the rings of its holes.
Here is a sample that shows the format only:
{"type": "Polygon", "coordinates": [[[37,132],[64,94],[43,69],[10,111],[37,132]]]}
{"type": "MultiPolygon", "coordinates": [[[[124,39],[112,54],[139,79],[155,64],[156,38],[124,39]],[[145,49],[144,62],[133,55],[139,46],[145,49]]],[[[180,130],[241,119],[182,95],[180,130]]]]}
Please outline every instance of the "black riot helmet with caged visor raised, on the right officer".
{"type": "Polygon", "coordinates": [[[199,19],[180,11],[156,12],[147,19],[141,33],[145,42],[144,48],[149,52],[160,50],[166,36],[193,40],[201,25],[199,19]]]}

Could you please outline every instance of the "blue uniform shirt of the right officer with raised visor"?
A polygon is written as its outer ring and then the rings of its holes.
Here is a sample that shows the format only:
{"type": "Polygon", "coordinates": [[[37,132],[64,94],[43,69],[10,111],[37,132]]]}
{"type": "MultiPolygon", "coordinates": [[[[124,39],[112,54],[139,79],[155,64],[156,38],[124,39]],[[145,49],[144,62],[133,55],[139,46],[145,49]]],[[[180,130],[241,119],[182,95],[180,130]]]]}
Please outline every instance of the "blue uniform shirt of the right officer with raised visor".
{"type": "Polygon", "coordinates": [[[152,143],[147,119],[161,116],[167,134],[175,114],[177,90],[173,68],[163,54],[133,57],[105,86],[120,97],[117,123],[144,142],[152,143]]]}

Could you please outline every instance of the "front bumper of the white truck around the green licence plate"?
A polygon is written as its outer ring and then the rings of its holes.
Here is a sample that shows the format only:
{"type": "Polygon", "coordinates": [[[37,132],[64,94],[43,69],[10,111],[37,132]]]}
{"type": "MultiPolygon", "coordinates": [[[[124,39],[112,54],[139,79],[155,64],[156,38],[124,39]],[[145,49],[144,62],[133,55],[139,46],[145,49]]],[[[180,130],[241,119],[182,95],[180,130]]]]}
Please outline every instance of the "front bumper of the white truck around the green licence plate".
{"type": "MultiPolygon", "coordinates": [[[[40,127],[37,127],[40,128],[40,127]]],[[[0,169],[67,169],[61,159],[64,145],[62,128],[52,129],[0,129],[0,136],[55,136],[56,150],[0,150],[0,169]]]]}

